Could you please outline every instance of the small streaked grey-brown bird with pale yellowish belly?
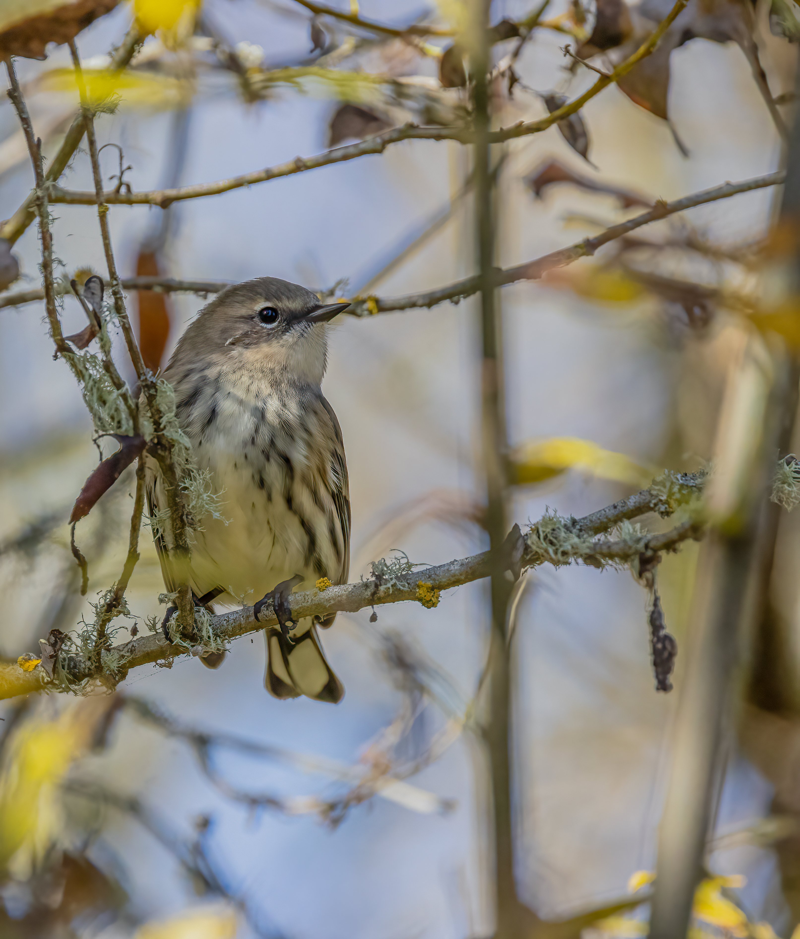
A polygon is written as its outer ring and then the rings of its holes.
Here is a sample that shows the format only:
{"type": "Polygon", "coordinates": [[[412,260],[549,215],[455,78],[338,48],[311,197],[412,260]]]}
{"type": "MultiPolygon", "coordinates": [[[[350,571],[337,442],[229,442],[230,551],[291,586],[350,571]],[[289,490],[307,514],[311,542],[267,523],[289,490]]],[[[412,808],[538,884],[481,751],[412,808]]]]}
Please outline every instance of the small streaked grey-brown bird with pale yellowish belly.
{"type": "MultiPolygon", "coordinates": [[[[341,430],[322,395],[327,323],[349,303],[323,304],[305,287],[259,277],[227,287],[180,337],[164,373],[196,468],[208,470],[223,517],[195,519],[189,581],[197,606],[270,601],[265,685],[275,698],[337,702],[344,688],[322,654],[316,625],[293,623],[295,587],[346,583],[350,498],[341,430]]],[[[166,505],[158,464],[146,460],[149,512],[166,505]]],[[[169,533],[155,541],[168,591],[176,589],[169,533]]],[[[166,622],[166,621],[165,621],[166,622]]],[[[216,668],[224,656],[207,654],[216,668]]]]}

